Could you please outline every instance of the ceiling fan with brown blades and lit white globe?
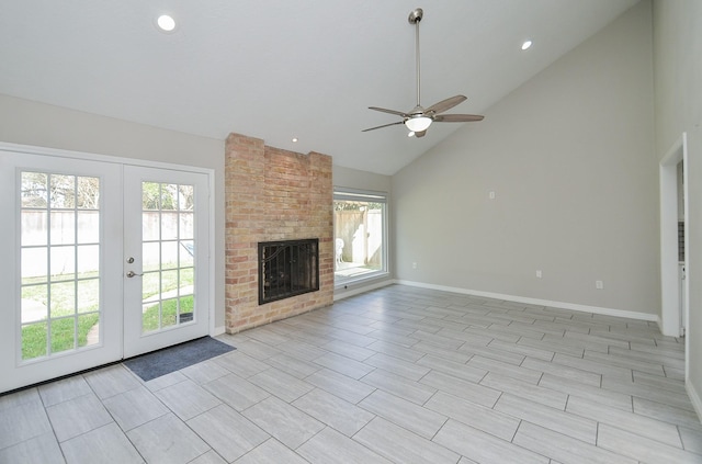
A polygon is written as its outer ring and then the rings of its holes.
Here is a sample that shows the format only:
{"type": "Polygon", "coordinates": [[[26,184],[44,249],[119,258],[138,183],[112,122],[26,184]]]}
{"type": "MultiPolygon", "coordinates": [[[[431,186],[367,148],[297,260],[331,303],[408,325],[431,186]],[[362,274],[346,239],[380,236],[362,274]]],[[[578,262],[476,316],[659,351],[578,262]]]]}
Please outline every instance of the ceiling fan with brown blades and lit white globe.
{"type": "Polygon", "coordinates": [[[419,22],[421,21],[424,12],[421,8],[417,8],[409,13],[409,23],[415,24],[415,37],[416,37],[416,57],[417,57],[417,106],[415,106],[408,113],[395,110],[387,110],[384,107],[369,106],[369,110],[381,111],[383,113],[395,114],[400,116],[403,121],[398,121],[390,124],[384,124],[377,127],[371,127],[363,129],[362,132],[375,131],[377,128],[394,126],[398,124],[405,124],[409,129],[409,136],[423,137],[427,134],[427,129],[431,123],[467,123],[472,121],[483,121],[485,116],[477,114],[441,114],[444,111],[451,110],[453,106],[462,103],[466,100],[464,95],[455,95],[450,99],[442,100],[439,103],[434,103],[431,106],[424,109],[420,103],[420,72],[419,72],[419,22]]]}

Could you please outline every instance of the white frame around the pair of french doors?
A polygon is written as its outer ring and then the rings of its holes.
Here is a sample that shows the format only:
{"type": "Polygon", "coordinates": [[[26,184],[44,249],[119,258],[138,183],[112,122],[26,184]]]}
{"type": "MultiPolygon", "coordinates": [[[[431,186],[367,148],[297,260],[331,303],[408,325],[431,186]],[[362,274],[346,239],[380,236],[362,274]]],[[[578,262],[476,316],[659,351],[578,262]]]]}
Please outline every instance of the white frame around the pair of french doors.
{"type": "MultiPolygon", "coordinates": [[[[179,171],[186,171],[186,172],[197,172],[197,173],[202,173],[207,176],[207,238],[208,238],[208,250],[207,250],[207,267],[206,267],[206,272],[210,274],[210,279],[208,279],[208,285],[206,288],[207,292],[207,301],[208,301],[208,308],[207,308],[207,318],[208,318],[208,324],[207,324],[207,331],[210,335],[215,335],[216,329],[215,329],[215,282],[216,282],[216,275],[215,275],[215,253],[214,253],[214,248],[215,248],[215,170],[211,169],[211,168],[203,168],[203,167],[196,167],[196,166],[186,166],[186,165],[178,165],[178,163],[170,163],[170,162],[160,162],[160,161],[150,161],[150,160],[145,160],[145,159],[138,159],[138,158],[124,158],[124,157],[117,157],[117,156],[110,156],[110,155],[100,155],[100,154],[92,154],[92,152],[87,152],[87,151],[73,151],[73,150],[66,150],[66,149],[59,149],[59,148],[49,148],[49,147],[38,147],[38,146],[31,146],[31,145],[21,145],[21,144],[11,144],[11,143],[4,143],[4,142],[0,142],[0,150],[5,150],[5,151],[14,151],[18,154],[26,154],[26,155],[39,155],[39,156],[48,156],[48,157],[55,157],[55,158],[64,158],[64,159],[71,159],[71,160],[84,160],[84,161],[95,161],[95,162],[105,162],[105,163],[113,163],[113,165],[120,165],[121,167],[123,166],[135,166],[135,167],[145,167],[145,168],[157,168],[157,169],[167,169],[167,170],[179,170],[179,171]]],[[[123,182],[123,181],[122,181],[123,182]]],[[[124,184],[121,185],[121,189],[123,189],[124,184]]],[[[122,202],[121,202],[122,203],[122,202]]],[[[15,206],[16,207],[16,206],[15,206]]],[[[15,220],[18,219],[16,214],[13,215],[13,224],[15,220]]],[[[122,245],[120,245],[120,249],[122,249],[122,245]]],[[[13,271],[14,272],[14,271],[13,271]]],[[[14,275],[12,278],[12,281],[14,281],[14,275]]],[[[122,282],[120,283],[120,286],[122,286],[122,282]]],[[[16,308],[13,307],[13,310],[15,310],[16,308]]],[[[14,318],[12,318],[14,320],[14,318]]],[[[14,330],[14,328],[13,328],[14,330]]],[[[124,327],[122,327],[122,331],[124,330],[124,327]]],[[[120,358],[123,359],[124,358],[124,333],[121,333],[121,347],[120,347],[120,358]]],[[[118,360],[115,360],[118,361],[118,360]]],[[[18,386],[19,388],[20,386],[18,386]]],[[[1,392],[0,392],[1,393],[1,392]]]]}

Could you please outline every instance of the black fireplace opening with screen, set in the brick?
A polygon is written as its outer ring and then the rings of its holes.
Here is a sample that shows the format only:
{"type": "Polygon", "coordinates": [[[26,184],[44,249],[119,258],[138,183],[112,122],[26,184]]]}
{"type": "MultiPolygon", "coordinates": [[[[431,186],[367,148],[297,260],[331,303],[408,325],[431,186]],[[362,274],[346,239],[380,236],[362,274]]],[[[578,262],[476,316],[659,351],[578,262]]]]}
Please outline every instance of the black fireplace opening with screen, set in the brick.
{"type": "Polygon", "coordinates": [[[259,305],[319,290],[319,239],[259,242],[259,305]]]}

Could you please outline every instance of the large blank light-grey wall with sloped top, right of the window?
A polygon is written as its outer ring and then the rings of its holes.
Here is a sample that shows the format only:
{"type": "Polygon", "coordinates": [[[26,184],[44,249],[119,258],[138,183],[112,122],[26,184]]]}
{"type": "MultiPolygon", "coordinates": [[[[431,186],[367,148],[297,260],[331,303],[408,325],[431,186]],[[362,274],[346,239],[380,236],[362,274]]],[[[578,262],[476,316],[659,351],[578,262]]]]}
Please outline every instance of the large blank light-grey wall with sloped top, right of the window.
{"type": "Polygon", "coordinates": [[[396,276],[656,318],[653,89],[644,1],[394,176],[396,276]]]}

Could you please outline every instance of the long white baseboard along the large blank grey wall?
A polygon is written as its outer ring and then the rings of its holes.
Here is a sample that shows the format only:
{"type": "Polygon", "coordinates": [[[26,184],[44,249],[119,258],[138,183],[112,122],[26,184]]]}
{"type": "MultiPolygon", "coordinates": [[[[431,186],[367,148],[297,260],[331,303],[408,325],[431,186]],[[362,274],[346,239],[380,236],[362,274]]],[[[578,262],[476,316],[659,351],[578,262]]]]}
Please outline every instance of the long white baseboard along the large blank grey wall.
{"type": "Polygon", "coordinates": [[[518,295],[506,295],[502,293],[482,292],[478,290],[460,288],[460,287],[445,286],[445,285],[433,285],[433,284],[426,284],[422,282],[412,282],[412,281],[403,281],[403,280],[397,280],[395,282],[401,285],[417,286],[421,288],[441,290],[444,292],[461,293],[464,295],[475,295],[475,296],[484,296],[486,298],[507,299],[510,302],[524,303],[528,305],[550,306],[555,308],[578,310],[584,313],[601,314],[604,316],[625,317],[627,319],[646,320],[646,321],[657,322],[658,325],[660,325],[658,315],[648,314],[648,313],[637,313],[633,310],[580,305],[577,303],[553,302],[550,299],[530,298],[526,296],[518,296],[518,295]]]}

